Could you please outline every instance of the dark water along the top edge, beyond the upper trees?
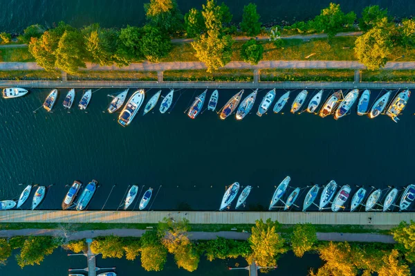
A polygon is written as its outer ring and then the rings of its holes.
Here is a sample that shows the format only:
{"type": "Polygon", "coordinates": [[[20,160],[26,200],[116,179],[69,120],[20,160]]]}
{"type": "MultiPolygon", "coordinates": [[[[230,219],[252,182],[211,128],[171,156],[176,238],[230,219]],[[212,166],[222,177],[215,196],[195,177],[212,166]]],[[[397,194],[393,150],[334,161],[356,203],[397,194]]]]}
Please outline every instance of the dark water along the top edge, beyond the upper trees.
{"type": "MultiPolygon", "coordinates": [[[[0,26],[2,31],[21,32],[31,24],[53,26],[59,21],[66,21],[81,27],[91,23],[100,23],[104,27],[122,27],[127,24],[140,25],[145,22],[144,3],[149,0],[2,0],[0,1],[0,26]]],[[[205,0],[178,0],[183,14],[190,8],[201,9],[205,0]]],[[[218,1],[221,3],[222,1],[218,1]]],[[[242,8],[250,2],[258,6],[261,21],[293,22],[307,20],[329,6],[331,0],[225,0],[234,15],[234,22],[241,21],[242,8]]],[[[392,17],[409,17],[414,15],[415,2],[412,0],[338,0],[345,12],[353,10],[358,15],[369,5],[388,8],[392,17]]]]}

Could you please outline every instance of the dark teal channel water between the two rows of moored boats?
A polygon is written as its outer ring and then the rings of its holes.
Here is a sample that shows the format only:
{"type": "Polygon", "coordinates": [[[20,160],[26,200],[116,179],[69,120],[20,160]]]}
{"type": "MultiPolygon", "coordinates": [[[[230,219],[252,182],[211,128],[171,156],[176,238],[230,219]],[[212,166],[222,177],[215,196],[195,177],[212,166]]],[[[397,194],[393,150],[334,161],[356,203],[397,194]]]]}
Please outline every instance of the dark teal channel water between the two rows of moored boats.
{"type": "MultiPolygon", "coordinates": [[[[77,108],[81,90],[71,113],[64,110],[66,91],[60,91],[53,113],[33,113],[48,89],[0,100],[0,199],[16,198],[29,183],[55,184],[39,208],[59,209],[68,190],[65,185],[96,179],[100,187],[89,210],[103,207],[113,185],[104,209],[117,209],[127,187],[134,184],[154,188],[151,210],[217,210],[225,185],[238,181],[254,187],[246,210],[261,210],[287,175],[292,187],[334,179],[351,185],[352,192],[356,185],[403,187],[414,181],[412,100],[397,124],[387,116],[357,116],[356,107],[338,121],[291,114],[288,106],[284,115],[271,112],[259,118],[252,113],[241,122],[234,116],[219,120],[212,111],[190,120],[183,111],[201,91],[183,89],[176,91],[178,101],[171,113],[140,113],[124,128],[116,122],[118,114],[103,112],[110,100],[107,94],[119,90],[93,93],[87,113],[77,108]]],[[[147,99],[156,91],[147,91],[147,99]]],[[[236,92],[221,90],[218,107],[236,92]]],[[[297,92],[291,95],[290,107],[297,92]]],[[[265,93],[259,92],[253,111],[265,93]]],[[[371,102],[378,93],[372,91],[371,102]]],[[[305,194],[302,190],[299,205],[305,194]]],[[[23,208],[29,207],[30,200],[23,208]]]]}

